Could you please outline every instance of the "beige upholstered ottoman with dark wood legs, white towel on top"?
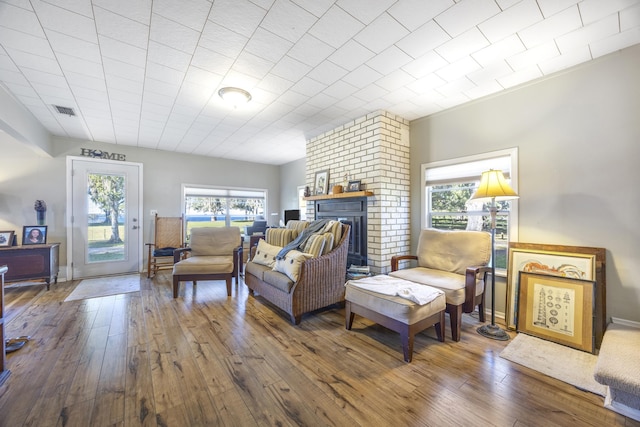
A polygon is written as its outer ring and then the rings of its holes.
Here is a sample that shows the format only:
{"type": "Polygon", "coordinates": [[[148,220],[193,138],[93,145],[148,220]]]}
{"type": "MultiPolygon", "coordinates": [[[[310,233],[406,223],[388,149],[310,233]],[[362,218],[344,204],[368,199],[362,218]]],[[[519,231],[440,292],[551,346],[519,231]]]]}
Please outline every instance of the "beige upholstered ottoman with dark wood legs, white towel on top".
{"type": "Polygon", "coordinates": [[[415,334],[434,325],[444,342],[444,292],[408,280],[379,275],[345,284],[345,326],[351,330],[355,314],[366,317],[402,339],[405,362],[413,356],[415,334]]]}

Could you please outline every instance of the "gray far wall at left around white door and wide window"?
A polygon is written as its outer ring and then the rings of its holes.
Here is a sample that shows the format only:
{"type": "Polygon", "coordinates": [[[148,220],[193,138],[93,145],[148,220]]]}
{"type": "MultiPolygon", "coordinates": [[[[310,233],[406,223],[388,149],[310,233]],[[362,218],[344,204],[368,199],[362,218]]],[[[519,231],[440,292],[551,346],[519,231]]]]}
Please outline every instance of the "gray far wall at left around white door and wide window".
{"type": "MultiPolygon", "coordinates": [[[[279,212],[280,168],[273,165],[193,156],[123,145],[101,144],[68,138],[53,138],[53,155],[34,151],[0,132],[0,230],[21,232],[35,223],[33,203],[47,202],[48,241],[62,242],[60,265],[66,265],[66,158],[79,156],[80,148],[126,155],[126,160],[143,164],[143,241],[151,235],[150,209],[159,215],[182,212],[182,184],[259,188],[268,191],[268,212],[279,212]]],[[[20,242],[20,238],[18,238],[20,242]]]]}

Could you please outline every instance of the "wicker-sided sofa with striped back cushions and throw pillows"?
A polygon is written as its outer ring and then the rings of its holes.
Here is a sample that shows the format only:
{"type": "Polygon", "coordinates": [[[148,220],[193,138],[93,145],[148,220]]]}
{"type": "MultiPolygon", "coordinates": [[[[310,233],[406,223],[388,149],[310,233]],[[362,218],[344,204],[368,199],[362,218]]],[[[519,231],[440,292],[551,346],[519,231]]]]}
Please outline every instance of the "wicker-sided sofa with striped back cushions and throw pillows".
{"type": "Polygon", "coordinates": [[[344,303],[349,231],[348,225],[331,221],[307,241],[308,252],[291,251],[276,260],[279,250],[300,233],[296,228],[268,229],[245,268],[250,295],[257,293],[283,310],[294,325],[305,313],[344,303]]]}

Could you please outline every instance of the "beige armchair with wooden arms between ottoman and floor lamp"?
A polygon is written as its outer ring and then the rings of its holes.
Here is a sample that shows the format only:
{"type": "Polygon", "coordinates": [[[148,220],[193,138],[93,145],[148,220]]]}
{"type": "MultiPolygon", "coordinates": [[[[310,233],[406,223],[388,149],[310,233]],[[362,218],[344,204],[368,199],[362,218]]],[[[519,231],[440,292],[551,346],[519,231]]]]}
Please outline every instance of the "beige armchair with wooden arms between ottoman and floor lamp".
{"type": "Polygon", "coordinates": [[[446,231],[433,228],[420,232],[417,255],[391,258],[390,276],[438,288],[446,297],[446,312],[451,322],[451,337],[460,341],[462,313],[478,306],[485,321],[484,289],[491,260],[491,235],[482,231],[446,231]],[[409,261],[417,267],[406,267],[409,261]]]}

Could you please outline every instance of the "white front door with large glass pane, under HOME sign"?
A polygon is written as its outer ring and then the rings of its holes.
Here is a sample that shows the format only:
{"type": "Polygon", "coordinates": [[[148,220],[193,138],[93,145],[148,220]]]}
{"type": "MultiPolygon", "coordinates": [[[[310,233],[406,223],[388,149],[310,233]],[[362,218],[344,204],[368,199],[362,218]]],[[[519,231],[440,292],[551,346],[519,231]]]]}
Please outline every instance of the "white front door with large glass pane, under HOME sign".
{"type": "Polygon", "coordinates": [[[67,173],[71,200],[67,276],[139,272],[142,165],[69,157],[67,173]]]}

